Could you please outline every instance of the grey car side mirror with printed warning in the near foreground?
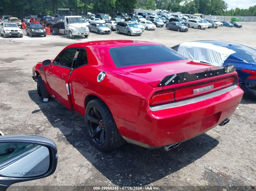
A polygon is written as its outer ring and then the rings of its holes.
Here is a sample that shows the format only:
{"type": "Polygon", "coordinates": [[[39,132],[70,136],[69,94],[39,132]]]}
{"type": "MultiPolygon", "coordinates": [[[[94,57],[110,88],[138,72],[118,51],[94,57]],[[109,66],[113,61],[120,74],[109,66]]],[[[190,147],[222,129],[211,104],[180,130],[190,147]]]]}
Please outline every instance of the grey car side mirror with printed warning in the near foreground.
{"type": "Polygon", "coordinates": [[[51,139],[36,135],[0,136],[0,190],[50,176],[57,161],[57,147],[51,139]]]}

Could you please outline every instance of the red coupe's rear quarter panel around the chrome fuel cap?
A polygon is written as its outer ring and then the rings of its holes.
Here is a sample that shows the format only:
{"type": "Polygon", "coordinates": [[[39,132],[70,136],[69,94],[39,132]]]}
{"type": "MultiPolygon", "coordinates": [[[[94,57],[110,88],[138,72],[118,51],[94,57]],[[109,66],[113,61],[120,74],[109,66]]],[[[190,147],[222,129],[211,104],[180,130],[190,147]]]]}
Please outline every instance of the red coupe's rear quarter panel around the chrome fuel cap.
{"type": "Polygon", "coordinates": [[[114,63],[105,46],[86,50],[89,65],[74,69],[70,78],[75,110],[84,116],[86,97],[95,95],[105,102],[113,116],[135,122],[141,100],[145,104],[146,95],[153,90],[148,80],[112,68],[114,63]],[[106,76],[98,82],[97,76],[102,71],[106,76]]]}

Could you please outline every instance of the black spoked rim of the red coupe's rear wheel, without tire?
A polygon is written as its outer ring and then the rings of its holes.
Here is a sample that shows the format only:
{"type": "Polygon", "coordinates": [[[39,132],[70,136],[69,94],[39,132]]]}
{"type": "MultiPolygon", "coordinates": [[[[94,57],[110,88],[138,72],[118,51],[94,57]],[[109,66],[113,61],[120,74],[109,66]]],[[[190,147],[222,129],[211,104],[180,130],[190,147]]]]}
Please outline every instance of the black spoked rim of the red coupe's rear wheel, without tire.
{"type": "Polygon", "coordinates": [[[102,146],[105,142],[106,128],[104,120],[96,107],[90,107],[87,119],[91,139],[97,145],[102,146]]]}

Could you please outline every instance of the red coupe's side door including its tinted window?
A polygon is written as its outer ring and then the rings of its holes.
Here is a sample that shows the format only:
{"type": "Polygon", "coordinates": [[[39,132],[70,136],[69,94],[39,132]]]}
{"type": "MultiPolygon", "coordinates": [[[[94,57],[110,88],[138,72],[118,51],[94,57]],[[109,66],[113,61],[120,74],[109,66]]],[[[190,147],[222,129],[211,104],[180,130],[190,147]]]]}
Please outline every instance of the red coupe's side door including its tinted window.
{"type": "Polygon", "coordinates": [[[45,70],[45,78],[51,88],[51,96],[70,110],[72,104],[68,79],[78,53],[78,49],[63,50],[45,70]]]}

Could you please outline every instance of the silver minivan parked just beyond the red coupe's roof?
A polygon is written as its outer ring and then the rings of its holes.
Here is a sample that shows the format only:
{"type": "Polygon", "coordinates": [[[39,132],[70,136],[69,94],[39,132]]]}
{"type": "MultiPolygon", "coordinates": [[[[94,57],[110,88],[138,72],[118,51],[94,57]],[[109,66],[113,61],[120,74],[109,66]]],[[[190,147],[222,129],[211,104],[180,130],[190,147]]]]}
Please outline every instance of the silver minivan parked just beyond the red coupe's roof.
{"type": "Polygon", "coordinates": [[[124,33],[131,35],[141,35],[142,30],[137,26],[136,23],[118,22],[115,27],[117,33],[124,33]]]}

